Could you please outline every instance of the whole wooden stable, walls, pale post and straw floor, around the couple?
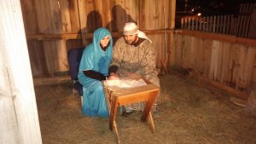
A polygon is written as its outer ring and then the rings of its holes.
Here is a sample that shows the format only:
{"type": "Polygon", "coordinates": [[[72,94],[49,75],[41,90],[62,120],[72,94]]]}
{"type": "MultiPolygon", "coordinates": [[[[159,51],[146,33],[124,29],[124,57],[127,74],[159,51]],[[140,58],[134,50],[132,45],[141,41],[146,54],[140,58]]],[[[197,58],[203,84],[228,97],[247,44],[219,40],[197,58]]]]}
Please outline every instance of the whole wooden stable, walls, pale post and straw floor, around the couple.
{"type": "Polygon", "coordinates": [[[177,1],[1,1],[1,143],[116,143],[108,118],[81,115],[67,52],[130,21],[153,41],[160,109],[154,133],[118,113],[121,143],[256,143],[256,3],[177,28],[177,1]]]}

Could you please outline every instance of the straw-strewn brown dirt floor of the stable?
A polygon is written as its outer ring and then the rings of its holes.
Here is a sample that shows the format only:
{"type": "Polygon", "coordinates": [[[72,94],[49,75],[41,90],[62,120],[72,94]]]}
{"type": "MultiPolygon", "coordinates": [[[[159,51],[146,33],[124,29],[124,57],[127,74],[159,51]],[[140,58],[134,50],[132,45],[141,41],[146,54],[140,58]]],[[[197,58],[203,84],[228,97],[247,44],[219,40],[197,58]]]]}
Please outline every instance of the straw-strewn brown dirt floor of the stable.
{"type": "MultiPolygon", "coordinates": [[[[117,114],[123,144],[255,144],[256,118],[230,102],[230,97],[171,74],[160,78],[159,112],[153,113],[156,132],[140,122],[142,112],[117,114]]],[[[44,144],[114,144],[108,118],[81,115],[72,84],[35,88],[44,144]]]]}

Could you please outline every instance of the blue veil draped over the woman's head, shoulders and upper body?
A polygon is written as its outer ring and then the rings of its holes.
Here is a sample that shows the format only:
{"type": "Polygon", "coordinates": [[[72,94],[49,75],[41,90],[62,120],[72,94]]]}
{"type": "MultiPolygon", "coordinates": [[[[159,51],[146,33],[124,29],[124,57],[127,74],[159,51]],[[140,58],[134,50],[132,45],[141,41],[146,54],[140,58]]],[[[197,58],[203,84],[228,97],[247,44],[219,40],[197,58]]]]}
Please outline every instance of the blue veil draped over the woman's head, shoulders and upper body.
{"type": "Polygon", "coordinates": [[[111,33],[106,28],[98,28],[93,33],[93,42],[90,43],[83,52],[79,66],[79,77],[85,77],[83,71],[93,70],[108,75],[109,63],[112,60],[113,39],[111,33]],[[104,51],[100,45],[101,40],[109,36],[108,48],[104,51]]]}

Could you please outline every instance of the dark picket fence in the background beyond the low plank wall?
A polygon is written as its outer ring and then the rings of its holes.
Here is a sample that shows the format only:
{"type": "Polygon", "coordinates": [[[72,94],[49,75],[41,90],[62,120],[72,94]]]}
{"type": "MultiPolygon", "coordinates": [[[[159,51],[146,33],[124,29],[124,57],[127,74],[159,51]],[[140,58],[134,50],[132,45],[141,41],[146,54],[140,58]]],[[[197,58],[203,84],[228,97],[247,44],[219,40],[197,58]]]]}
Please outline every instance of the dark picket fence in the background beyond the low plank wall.
{"type": "Polygon", "coordinates": [[[205,17],[184,17],[181,20],[181,28],[247,37],[252,25],[250,20],[254,10],[256,10],[256,3],[243,3],[240,6],[238,15],[224,14],[205,17]]]}

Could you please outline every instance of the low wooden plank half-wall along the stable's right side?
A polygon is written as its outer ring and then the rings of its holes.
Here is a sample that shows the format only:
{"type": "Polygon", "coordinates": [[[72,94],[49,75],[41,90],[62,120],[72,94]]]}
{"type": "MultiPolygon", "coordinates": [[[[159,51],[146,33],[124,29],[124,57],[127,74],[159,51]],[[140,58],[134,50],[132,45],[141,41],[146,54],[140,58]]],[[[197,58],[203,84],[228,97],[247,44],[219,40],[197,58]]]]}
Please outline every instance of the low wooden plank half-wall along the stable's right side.
{"type": "Polygon", "coordinates": [[[206,32],[177,32],[174,68],[248,94],[256,58],[256,40],[206,32]]]}

